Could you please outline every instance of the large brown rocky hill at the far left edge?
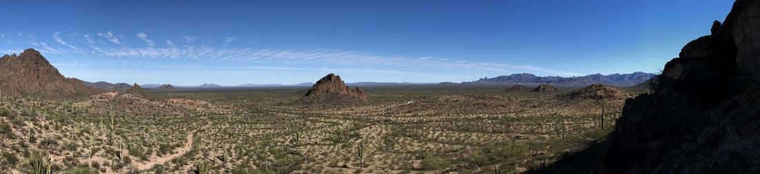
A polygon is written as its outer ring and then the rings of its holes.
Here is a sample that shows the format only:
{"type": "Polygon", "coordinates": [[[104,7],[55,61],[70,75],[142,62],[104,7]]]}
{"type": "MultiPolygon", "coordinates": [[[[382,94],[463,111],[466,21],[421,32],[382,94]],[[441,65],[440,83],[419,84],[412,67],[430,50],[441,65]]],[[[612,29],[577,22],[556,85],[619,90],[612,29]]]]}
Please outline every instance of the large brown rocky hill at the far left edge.
{"type": "Polygon", "coordinates": [[[66,78],[39,51],[24,50],[20,55],[0,57],[0,92],[2,95],[38,98],[71,98],[100,92],[79,79],[66,78]]]}

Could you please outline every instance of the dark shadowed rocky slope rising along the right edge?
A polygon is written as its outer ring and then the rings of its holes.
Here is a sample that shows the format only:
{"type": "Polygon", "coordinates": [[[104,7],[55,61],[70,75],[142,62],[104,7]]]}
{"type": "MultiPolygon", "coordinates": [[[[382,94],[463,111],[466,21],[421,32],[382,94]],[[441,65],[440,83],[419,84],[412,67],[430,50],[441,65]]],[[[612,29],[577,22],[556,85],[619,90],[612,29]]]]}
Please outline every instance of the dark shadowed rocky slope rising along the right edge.
{"type": "Polygon", "coordinates": [[[537,173],[760,173],[760,1],[738,0],[711,35],[628,99],[606,141],[537,173]]]}

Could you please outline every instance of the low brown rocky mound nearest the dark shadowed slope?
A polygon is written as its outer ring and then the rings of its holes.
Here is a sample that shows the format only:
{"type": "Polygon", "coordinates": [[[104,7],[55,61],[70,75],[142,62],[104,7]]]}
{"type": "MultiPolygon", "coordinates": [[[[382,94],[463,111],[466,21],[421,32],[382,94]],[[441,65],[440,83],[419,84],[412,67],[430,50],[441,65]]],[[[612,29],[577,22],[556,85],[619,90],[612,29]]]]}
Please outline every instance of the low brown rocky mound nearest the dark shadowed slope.
{"type": "Polygon", "coordinates": [[[563,98],[569,99],[590,100],[623,100],[629,97],[630,95],[621,89],[617,89],[611,85],[602,84],[589,85],[583,89],[578,89],[563,96],[563,98]]]}

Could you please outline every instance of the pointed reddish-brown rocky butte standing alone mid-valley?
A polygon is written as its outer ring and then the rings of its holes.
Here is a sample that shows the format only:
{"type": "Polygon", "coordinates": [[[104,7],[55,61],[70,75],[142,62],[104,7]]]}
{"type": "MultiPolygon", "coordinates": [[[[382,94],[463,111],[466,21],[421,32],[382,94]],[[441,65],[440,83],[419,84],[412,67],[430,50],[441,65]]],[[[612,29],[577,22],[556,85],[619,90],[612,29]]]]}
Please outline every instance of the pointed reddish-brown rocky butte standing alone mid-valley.
{"type": "Polygon", "coordinates": [[[362,89],[359,89],[359,87],[351,89],[340,79],[340,76],[336,76],[332,73],[319,79],[319,81],[309,89],[309,92],[306,92],[304,98],[318,98],[325,95],[338,95],[347,98],[358,98],[361,100],[367,99],[367,95],[362,92],[362,89]]]}

